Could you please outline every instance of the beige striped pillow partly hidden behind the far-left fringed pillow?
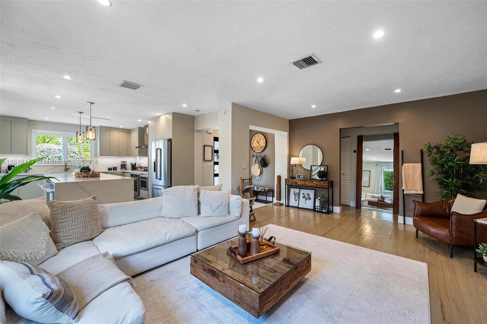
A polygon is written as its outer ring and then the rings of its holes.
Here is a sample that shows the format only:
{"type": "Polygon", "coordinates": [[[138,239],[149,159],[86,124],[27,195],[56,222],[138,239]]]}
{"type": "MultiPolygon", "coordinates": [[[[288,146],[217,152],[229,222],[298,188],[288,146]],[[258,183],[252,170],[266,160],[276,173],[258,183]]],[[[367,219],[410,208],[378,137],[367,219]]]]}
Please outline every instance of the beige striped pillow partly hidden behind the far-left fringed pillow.
{"type": "Polygon", "coordinates": [[[38,212],[42,221],[46,223],[47,227],[50,227],[51,218],[45,197],[14,200],[0,204],[0,226],[33,212],[38,212]]]}

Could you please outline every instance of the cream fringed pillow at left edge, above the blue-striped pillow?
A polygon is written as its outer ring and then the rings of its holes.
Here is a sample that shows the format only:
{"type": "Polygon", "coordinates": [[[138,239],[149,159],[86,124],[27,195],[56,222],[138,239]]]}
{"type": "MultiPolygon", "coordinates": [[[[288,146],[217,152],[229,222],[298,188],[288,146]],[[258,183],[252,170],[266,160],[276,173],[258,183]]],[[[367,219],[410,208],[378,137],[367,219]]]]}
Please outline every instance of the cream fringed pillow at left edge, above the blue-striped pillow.
{"type": "Polygon", "coordinates": [[[0,259],[38,265],[56,255],[47,225],[37,212],[0,227],[0,259]]]}

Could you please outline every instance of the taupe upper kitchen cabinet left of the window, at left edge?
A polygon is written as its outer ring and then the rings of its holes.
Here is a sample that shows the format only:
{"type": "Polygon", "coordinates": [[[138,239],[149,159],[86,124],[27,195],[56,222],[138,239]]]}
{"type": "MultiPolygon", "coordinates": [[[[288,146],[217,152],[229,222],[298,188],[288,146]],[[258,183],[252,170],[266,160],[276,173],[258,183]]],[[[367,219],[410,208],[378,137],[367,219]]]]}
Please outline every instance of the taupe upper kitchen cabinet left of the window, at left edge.
{"type": "Polygon", "coordinates": [[[0,154],[27,155],[27,118],[0,116],[0,154]]]}

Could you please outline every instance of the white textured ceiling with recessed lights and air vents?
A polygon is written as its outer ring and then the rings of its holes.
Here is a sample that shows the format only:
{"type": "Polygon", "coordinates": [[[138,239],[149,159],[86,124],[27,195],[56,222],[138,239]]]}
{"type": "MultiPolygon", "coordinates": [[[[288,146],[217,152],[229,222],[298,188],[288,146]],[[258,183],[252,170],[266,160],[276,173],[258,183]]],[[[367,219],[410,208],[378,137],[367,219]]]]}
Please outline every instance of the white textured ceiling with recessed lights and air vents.
{"type": "Polygon", "coordinates": [[[134,127],[235,102],[291,119],[487,88],[486,1],[112,3],[0,1],[1,114],[75,124],[93,101],[97,125],[134,127]]]}

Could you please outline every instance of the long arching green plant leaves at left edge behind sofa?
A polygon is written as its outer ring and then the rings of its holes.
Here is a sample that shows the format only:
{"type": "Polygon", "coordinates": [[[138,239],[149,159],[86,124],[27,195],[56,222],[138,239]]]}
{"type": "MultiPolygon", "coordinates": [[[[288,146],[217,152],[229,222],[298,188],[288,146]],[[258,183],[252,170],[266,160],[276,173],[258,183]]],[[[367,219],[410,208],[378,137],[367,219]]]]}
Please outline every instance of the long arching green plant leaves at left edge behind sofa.
{"type": "MultiPolygon", "coordinates": [[[[7,159],[0,159],[0,164],[5,162],[7,159]]],[[[47,179],[56,179],[55,177],[45,177],[40,175],[29,175],[25,178],[21,179],[14,179],[20,172],[27,170],[32,165],[34,165],[39,159],[34,159],[29,162],[14,166],[9,173],[4,175],[0,178],[0,203],[8,202],[12,200],[22,200],[20,197],[12,195],[12,191],[15,189],[25,186],[26,184],[31,183],[32,181],[38,180],[47,180],[47,179]],[[3,201],[2,201],[3,200],[3,201]]],[[[56,179],[57,180],[57,179],[56,179]]]]}

